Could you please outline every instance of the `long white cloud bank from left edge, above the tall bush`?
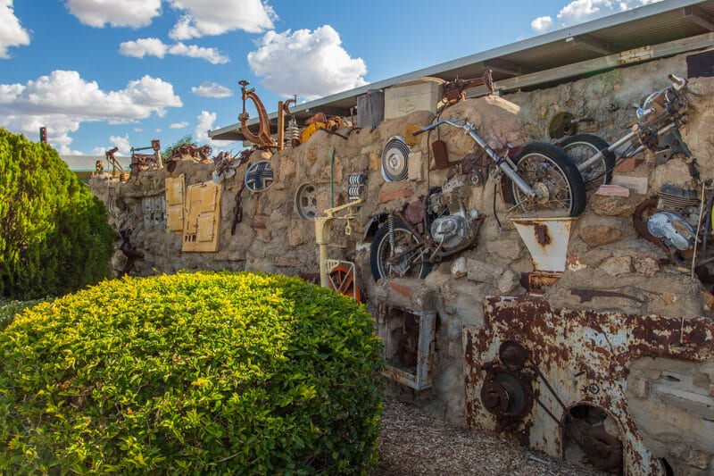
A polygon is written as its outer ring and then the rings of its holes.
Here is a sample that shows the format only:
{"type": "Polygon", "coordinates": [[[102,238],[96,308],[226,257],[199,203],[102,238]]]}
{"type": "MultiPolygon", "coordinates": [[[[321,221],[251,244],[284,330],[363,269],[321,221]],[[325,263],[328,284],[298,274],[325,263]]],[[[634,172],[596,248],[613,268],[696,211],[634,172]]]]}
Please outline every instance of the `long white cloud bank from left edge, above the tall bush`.
{"type": "Polygon", "coordinates": [[[53,71],[26,84],[0,84],[0,125],[35,137],[46,126],[48,141],[62,151],[82,122],[127,123],[152,114],[162,117],[167,107],[183,105],[173,86],[144,76],[126,88],[104,91],[77,71],[53,71]]]}

